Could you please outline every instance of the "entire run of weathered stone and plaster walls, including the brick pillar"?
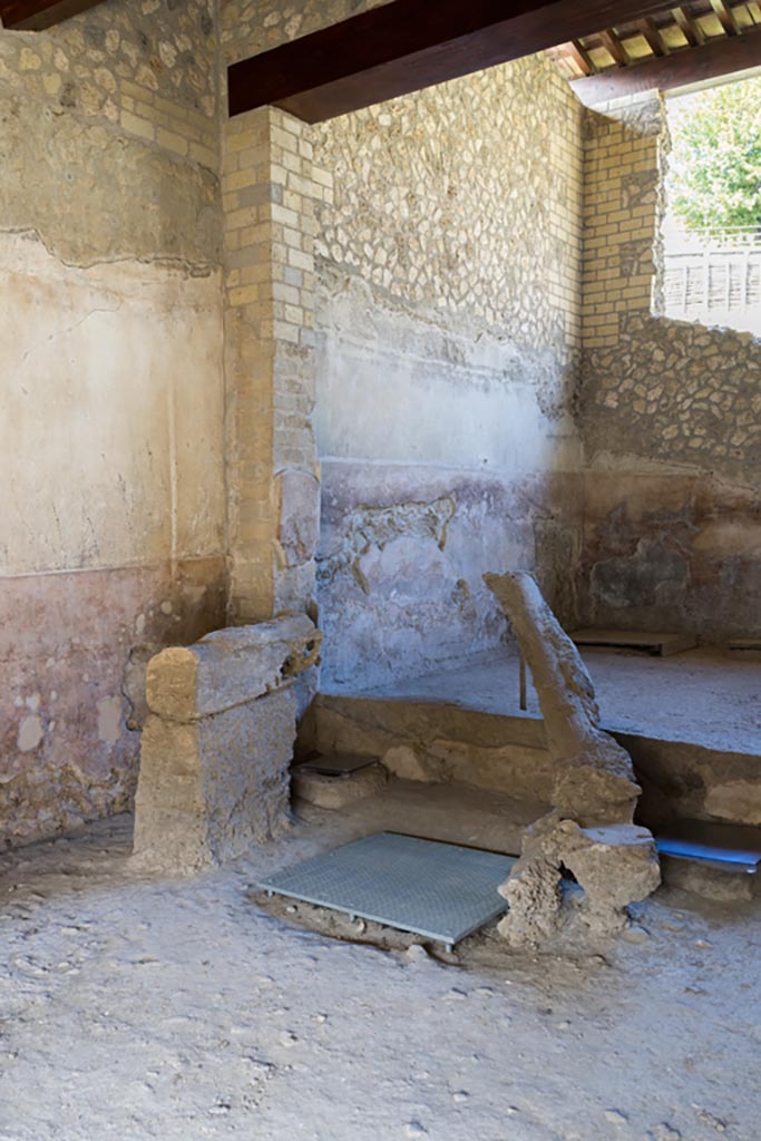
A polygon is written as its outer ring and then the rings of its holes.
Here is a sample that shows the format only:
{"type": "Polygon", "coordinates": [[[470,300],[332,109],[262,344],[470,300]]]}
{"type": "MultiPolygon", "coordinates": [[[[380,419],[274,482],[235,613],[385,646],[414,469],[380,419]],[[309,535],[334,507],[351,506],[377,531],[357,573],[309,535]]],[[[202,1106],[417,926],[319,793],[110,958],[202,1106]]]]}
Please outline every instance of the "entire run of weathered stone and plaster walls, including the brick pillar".
{"type": "Polygon", "coordinates": [[[130,807],[146,662],[225,621],[319,605],[351,688],[497,646],[505,567],[759,629],[758,343],[651,315],[657,107],[584,141],[537,57],[227,122],[227,58],[375,2],[0,31],[0,847],[130,807]]]}

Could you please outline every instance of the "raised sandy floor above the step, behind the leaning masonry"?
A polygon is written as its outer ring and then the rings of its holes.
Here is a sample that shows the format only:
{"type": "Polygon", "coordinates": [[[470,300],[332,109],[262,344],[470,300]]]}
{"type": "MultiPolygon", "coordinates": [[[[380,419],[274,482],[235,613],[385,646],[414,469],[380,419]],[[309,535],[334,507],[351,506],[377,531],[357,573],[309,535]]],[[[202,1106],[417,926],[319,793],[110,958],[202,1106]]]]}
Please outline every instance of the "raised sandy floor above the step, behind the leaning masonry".
{"type": "MultiPolygon", "coordinates": [[[[759,655],[694,649],[651,657],[589,649],[582,656],[605,728],[761,755],[759,655]]],[[[509,653],[478,655],[456,669],[366,690],[362,696],[423,697],[485,713],[520,715],[518,659],[509,653]]],[[[531,680],[527,715],[541,717],[531,680]]]]}

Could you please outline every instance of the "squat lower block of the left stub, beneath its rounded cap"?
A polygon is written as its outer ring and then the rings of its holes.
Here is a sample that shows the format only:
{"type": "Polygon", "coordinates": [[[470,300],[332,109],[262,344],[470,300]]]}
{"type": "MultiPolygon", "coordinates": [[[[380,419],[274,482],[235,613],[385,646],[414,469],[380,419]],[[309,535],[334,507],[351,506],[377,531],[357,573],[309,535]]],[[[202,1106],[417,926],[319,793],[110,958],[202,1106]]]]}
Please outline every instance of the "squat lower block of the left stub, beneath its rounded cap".
{"type": "Polygon", "coordinates": [[[296,697],[288,687],[201,720],[143,730],[135,856],[193,872],[241,856],[289,820],[296,697]]]}

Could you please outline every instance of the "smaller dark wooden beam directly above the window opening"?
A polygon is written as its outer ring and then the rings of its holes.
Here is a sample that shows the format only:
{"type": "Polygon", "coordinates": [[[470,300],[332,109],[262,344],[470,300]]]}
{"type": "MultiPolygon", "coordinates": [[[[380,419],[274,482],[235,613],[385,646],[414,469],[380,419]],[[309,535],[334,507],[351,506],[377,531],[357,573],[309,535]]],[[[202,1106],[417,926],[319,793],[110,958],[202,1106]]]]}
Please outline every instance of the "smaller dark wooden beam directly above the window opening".
{"type": "Polygon", "coordinates": [[[608,99],[642,91],[673,91],[706,80],[732,75],[735,72],[761,66],[761,30],[734,35],[717,37],[697,48],[682,48],[661,59],[646,59],[641,64],[573,80],[570,86],[588,107],[608,99]]]}

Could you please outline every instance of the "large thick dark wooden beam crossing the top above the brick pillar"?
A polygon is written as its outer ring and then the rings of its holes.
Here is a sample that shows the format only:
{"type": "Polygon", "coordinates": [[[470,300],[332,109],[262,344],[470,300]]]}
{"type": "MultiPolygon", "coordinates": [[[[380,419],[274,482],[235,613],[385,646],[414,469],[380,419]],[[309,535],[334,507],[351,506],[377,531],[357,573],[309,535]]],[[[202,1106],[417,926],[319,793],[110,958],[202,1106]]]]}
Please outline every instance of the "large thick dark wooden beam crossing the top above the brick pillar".
{"type": "Polygon", "coordinates": [[[394,0],[228,68],[230,115],[310,123],[663,10],[663,0],[394,0]]]}

